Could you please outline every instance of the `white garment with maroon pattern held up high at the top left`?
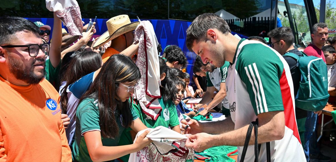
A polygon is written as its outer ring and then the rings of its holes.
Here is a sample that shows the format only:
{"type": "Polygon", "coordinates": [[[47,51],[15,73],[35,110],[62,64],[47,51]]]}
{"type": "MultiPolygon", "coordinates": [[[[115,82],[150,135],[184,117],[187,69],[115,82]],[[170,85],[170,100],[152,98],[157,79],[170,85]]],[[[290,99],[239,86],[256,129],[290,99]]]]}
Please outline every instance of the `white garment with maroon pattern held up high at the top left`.
{"type": "Polygon", "coordinates": [[[70,35],[83,36],[82,15],[76,0],[46,0],[45,3],[47,9],[55,12],[67,26],[70,35]]]}

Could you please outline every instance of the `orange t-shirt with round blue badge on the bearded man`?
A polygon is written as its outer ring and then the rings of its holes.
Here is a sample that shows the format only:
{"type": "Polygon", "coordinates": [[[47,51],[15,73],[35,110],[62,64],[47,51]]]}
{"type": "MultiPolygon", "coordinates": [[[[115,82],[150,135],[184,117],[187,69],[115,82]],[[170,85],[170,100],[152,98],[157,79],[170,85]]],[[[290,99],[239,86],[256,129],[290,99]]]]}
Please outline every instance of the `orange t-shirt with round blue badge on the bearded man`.
{"type": "Polygon", "coordinates": [[[59,95],[43,79],[16,86],[0,76],[0,162],[71,162],[59,95]]]}

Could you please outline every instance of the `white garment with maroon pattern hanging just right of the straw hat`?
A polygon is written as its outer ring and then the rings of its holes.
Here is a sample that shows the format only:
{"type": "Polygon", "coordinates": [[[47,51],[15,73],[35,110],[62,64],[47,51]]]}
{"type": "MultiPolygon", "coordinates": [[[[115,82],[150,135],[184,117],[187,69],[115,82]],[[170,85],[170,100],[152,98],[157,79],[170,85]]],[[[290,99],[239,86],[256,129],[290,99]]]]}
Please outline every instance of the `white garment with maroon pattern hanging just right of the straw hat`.
{"type": "Polygon", "coordinates": [[[135,88],[133,97],[139,101],[142,112],[147,118],[156,120],[162,111],[158,101],[160,93],[160,65],[158,58],[158,40],[150,21],[141,21],[136,27],[134,40],[139,41],[138,66],[141,79],[135,88]]]}

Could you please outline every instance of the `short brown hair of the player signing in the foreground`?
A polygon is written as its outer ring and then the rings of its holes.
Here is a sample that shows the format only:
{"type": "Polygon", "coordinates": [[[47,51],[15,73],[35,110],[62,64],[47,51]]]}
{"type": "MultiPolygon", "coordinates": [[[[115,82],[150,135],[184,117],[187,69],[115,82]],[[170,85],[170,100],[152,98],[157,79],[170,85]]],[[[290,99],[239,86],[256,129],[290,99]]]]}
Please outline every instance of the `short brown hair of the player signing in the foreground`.
{"type": "Polygon", "coordinates": [[[186,44],[189,51],[193,51],[194,41],[200,42],[201,40],[206,40],[209,29],[217,29],[225,35],[231,32],[227,22],[220,16],[214,13],[201,14],[195,18],[187,29],[186,44]]]}

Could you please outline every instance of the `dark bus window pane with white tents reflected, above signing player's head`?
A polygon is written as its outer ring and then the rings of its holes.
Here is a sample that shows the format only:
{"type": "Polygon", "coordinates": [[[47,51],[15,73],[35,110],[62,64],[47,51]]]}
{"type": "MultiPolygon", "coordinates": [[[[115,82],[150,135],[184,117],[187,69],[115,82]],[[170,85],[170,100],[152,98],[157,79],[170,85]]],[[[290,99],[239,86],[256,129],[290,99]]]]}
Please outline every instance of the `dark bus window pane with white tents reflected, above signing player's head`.
{"type": "Polygon", "coordinates": [[[183,0],[170,1],[169,18],[193,21],[211,12],[221,16],[233,32],[267,37],[276,26],[276,0],[183,0]]]}

